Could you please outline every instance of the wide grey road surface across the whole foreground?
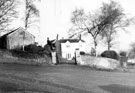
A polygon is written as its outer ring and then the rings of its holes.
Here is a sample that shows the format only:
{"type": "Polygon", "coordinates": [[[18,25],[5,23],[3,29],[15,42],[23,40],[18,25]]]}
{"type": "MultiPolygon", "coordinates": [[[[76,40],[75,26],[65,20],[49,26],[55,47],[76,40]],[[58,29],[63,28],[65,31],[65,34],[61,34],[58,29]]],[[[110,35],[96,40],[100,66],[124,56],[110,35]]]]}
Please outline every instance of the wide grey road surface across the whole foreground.
{"type": "Polygon", "coordinates": [[[0,93],[135,93],[135,67],[129,70],[0,64],[0,93]]]}

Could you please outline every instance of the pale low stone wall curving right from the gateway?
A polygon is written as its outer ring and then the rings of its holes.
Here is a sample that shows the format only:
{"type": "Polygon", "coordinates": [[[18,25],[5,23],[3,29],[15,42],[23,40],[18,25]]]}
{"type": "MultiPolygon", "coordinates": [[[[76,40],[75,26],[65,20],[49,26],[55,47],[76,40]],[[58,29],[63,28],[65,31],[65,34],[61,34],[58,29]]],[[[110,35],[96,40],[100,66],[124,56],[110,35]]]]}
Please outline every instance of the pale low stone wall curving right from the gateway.
{"type": "Polygon", "coordinates": [[[120,62],[117,60],[103,57],[92,57],[90,55],[81,55],[78,64],[105,70],[115,70],[120,67],[120,62]]]}

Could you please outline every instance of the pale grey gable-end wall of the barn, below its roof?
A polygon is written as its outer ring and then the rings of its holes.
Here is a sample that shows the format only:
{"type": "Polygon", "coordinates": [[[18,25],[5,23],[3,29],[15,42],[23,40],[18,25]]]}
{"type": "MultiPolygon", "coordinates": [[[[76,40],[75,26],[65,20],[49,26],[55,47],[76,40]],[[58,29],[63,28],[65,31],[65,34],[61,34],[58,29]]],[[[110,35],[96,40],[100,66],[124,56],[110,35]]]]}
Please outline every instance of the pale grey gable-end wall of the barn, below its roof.
{"type": "Polygon", "coordinates": [[[7,49],[20,48],[23,45],[33,44],[35,38],[24,30],[15,31],[7,36],[7,49]]]}

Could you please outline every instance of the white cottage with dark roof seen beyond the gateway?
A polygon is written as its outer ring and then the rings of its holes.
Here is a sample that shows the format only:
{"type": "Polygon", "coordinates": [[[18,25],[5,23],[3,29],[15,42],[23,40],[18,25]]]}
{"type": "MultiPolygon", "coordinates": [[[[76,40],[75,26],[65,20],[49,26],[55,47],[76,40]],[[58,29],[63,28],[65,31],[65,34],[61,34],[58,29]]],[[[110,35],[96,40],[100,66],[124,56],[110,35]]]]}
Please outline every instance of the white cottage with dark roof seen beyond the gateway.
{"type": "Polygon", "coordinates": [[[75,51],[85,52],[85,41],[81,39],[61,39],[61,56],[67,60],[72,60],[75,57],[75,51]]]}

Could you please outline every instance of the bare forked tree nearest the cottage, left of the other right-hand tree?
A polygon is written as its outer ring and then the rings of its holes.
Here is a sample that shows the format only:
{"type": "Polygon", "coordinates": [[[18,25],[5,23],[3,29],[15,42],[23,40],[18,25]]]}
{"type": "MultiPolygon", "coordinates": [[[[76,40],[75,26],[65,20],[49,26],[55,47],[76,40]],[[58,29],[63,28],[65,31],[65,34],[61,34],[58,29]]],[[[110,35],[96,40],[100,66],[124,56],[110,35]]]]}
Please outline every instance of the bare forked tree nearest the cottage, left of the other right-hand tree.
{"type": "Polygon", "coordinates": [[[70,38],[78,34],[89,33],[94,42],[94,49],[97,47],[97,36],[106,28],[107,18],[102,19],[101,13],[97,11],[95,14],[85,14],[83,9],[76,9],[72,13],[71,22],[74,24],[69,32],[72,32],[70,38]]]}

